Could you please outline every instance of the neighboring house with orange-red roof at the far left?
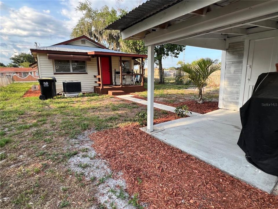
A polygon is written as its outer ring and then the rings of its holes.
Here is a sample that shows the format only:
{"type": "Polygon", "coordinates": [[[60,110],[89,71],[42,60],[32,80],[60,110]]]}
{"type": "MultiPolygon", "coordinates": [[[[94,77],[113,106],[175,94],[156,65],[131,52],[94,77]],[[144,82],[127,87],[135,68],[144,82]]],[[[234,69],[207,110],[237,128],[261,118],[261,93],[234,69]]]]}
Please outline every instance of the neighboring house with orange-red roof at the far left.
{"type": "Polygon", "coordinates": [[[34,77],[37,77],[39,74],[38,69],[34,68],[1,67],[0,75],[18,75],[19,77],[23,78],[27,75],[33,75],[34,77]]]}

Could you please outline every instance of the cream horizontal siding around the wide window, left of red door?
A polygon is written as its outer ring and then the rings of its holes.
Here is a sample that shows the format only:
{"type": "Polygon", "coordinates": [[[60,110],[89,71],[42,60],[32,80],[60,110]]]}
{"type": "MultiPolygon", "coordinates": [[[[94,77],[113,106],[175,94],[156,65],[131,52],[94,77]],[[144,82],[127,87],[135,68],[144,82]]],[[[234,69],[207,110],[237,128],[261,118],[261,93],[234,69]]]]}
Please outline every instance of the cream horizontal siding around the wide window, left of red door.
{"type": "Polygon", "coordinates": [[[55,74],[53,71],[53,62],[47,58],[47,54],[38,54],[38,64],[40,69],[41,78],[47,78],[54,76],[57,80],[56,90],[57,93],[63,91],[62,82],[65,80],[78,80],[81,81],[82,92],[94,92],[94,86],[98,86],[95,81],[98,78],[94,78],[94,75],[98,75],[96,58],[92,58],[91,61],[87,61],[87,73],[88,74],[55,74]]]}

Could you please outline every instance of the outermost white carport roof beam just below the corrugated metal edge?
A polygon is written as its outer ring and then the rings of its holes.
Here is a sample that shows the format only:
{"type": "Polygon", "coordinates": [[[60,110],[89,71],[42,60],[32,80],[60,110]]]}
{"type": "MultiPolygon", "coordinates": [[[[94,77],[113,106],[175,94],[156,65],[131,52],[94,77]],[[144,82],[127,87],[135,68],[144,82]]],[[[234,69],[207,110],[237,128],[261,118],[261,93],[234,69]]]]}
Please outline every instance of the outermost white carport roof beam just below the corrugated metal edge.
{"type": "Polygon", "coordinates": [[[137,33],[143,32],[167,21],[186,15],[195,10],[209,6],[217,1],[181,1],[173,6],[122,31],[122,39],[127,39],[137,33]]]}

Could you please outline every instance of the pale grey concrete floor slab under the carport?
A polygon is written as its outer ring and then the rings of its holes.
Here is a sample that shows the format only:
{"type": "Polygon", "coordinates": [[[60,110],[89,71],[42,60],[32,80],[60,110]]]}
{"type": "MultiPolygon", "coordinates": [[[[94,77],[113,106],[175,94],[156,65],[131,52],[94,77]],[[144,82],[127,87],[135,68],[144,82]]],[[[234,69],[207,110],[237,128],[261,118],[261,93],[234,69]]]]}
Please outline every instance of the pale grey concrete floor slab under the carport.
{"type": "Polygon", "coordinates": [[[239,112],[219,109],[154,125],[152,136],[191,154],[246,183],[271,193],[278,177],[248,163],[237,146],[241,131],[239,112]]]}

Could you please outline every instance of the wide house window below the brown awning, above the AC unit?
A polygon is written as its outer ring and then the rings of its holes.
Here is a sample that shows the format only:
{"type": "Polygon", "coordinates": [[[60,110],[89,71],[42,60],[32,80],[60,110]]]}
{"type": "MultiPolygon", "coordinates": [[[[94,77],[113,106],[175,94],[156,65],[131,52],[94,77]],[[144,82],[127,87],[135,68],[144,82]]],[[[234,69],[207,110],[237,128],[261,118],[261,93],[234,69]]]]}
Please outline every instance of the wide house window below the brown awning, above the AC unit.
{"type": "Polygon", "coordinates": [[[86,73],[86,61],[54,60],[55,73],[86,73]]]}

